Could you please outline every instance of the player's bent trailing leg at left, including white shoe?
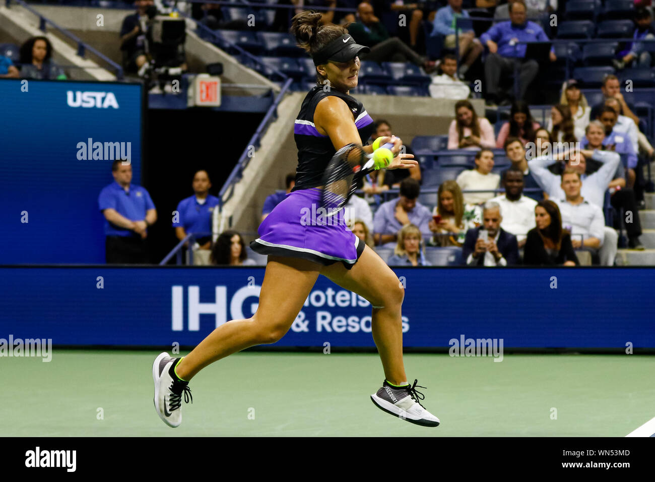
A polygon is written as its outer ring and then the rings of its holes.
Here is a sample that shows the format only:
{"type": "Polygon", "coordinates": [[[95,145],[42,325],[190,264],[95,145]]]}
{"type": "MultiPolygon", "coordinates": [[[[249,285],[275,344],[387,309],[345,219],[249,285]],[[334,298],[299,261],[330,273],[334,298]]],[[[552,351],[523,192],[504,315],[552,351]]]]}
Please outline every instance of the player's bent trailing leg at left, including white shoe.
{"type": "Polygon", "coordinates": [[[153,364],[155,409],[160,418],[168,426],[179,426],[181,396],[184,394],[188,403],[189,380],[210,363],[250,346],[280,340],[303,307],[321,268],[307,260],[269,256],[259,306],[251,318],[223,323],[182,359],[160,353],[153,364]]]}

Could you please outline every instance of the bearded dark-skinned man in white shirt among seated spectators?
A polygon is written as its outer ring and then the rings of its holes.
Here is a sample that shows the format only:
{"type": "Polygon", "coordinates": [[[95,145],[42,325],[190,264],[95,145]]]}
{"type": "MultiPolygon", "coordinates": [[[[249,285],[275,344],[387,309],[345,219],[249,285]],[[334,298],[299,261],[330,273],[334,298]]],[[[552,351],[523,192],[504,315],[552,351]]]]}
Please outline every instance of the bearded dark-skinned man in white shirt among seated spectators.
{"type": "Polygon", "coordinates": [[[500,227],[516,236],[519,248],[525,245],[527,232],[534,228],[536,201],[523,195],[523,171],[510,167],[503,173],[505,193],[492,197],[490,203],[498,203],[502,212],[500,227]]]}

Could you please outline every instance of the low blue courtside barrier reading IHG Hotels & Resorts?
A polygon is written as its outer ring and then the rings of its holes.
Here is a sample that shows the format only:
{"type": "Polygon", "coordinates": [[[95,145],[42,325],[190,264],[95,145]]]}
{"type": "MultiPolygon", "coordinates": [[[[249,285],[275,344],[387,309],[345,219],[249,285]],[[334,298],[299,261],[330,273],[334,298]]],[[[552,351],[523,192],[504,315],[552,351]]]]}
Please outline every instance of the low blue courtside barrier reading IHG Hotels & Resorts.
{"type": "MultiPolygon", "coordinates": [[[[406,286],[406,347],[447,348],[462,336],[502,338],[504,348],[655,347],[652,269],[395,271],[406,286]]],[[[0,338],[195,346],[217,325],[252,315],[263,274],[263,268],[0,267],[0,338]]],[[[276,345],[372,347],[370,316],[368,302],[319,277],[276,345]]]]}

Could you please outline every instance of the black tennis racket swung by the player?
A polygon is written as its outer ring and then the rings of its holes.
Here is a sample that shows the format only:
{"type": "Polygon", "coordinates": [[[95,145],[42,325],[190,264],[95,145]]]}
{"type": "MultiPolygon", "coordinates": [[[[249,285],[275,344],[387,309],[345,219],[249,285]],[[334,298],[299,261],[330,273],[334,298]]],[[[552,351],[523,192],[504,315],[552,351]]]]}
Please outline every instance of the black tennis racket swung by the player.
{"type": "MultiPolygon", "coordinates": [[[[391,149],[394,144],[387,142],[381,147],[391,149]]],[[[357,144],[348,144],[335,152],[322,180],[321,205],[326,216],[334,216],[341,211],[357,190],[359,180],[374,170],[375,162],[371,157],[373,154],[367,154],[357,144]]]]}

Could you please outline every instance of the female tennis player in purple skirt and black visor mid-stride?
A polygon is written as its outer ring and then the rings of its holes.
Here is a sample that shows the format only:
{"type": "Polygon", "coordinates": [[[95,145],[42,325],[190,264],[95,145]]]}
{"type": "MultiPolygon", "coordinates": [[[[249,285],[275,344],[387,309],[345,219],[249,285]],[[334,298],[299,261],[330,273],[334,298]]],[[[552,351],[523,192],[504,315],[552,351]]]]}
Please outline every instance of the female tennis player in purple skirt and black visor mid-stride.
{"type": "MultiPolygon", "coordinates": [[[[303,308],[320,274],[373,306],[371,331],[385,377],[382,387],[371,395],[373,403],[407,422],[439,425],[439,419],[419,402],[424,395],[416,390],[418,380],[413,385],[407,383],[401,322],[405,293],[394,271],[348,230],[343,211],[335,214],[339,222],[301,221],[312,203],[320,206],[322,176],[335,152],[351,143],[362,146],[374,130],[373,119],[362,102],[348,94],[357,85],[358,55],[369,49],[356,44],[345,28],[320,26],[320,20],[320,13],[310,11],[301,12],[292,20],[291,32],[298,45],[312,56],[319,83],[305,97],[295,120],[295,188],[261,223],[259,238],[251,243],[254,251],[268,255],[259,308],[249,319],[217,327],[185,357],[172,358],[168,353],[160,353],[155,359],[155,409],[171,427],[181,423],[181,395],[184,393],[188,403],[189,380],[231,353],[280,340],[303,308]],[[323,81],[329,81],[329,89],[324,89],[323,81]]],[[[379,141],[394,144],[392,153],[396,157],[386,169],[418,165],[411,159],[413,155],[399,154],[399,138],[379,141]]],[[[366,153],[372,150],[371,146],[364,146],[366,153]]]]}

